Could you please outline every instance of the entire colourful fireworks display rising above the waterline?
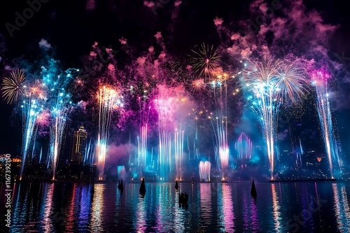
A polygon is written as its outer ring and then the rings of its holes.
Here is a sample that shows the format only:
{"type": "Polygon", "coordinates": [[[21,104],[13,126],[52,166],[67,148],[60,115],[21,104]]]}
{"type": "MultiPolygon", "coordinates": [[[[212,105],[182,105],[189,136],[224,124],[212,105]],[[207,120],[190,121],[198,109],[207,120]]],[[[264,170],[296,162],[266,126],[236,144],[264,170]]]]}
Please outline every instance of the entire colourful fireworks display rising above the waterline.
{"type": "MultiPolygon", "coordinates": [[[[102,55],[97,43],[92,48],[94,52],[90,53],[88,62],[102,55]]],[[[164,51],[153,57],[150,48],[148,55],[138,57],[126,70],[117,69],[111,59],[110,63],[81,74],[80,69],[61,71],[59,62],[49,59],[41,66],[42,79],[25,79],[25,73],[20,70],[11,72],[3,78],[1,90],[8,104],[19,100],[22,106],[20,178],[27,157],[31,154],[29,157],[34,160],[38,150],[38,161],[47,164],[45,167],[55,180],[69,124],[81,116],[86,118],[90,109],[90,130],[94,133],[89,134],[90,143],[86,143],[82,157],[85,166],[96,166],[99,181],[106,179],[106,171],[113,170],[109,165],[113,156],[121,156],[120,152],[113,152],[113,146],[118,145],[117,139],[122,139],[123,134],[129,137],[128,162],[117,165],[124,166],[125,172],[131,171],[133,178],[155,176],[158,181],[183,181],[188,178],[185,174],[191,166],[200,162],[196,173],[201,181],[210,181],[211,173],[216,174],[213,176],[216,180],[227,181],[235,167],[252,164],[252,140],[243,132],[238,139],[230,133],[240,117],[236,108],[240,109],[242,103],[255,113],[260,124],[265,144],[262,156],[267,158],[269,179],[273,180],[280,157],[277,128],[281,107],[295,104],[311,92],[309,79],[315,86],[333,177],[333,167],[335,164],[341,167],[341,160],[328,101],[328,74],[316,71],[308,76],[307,66],[298,59],[248,59],[225,72],[221,56],[213,46],[202,44],[191,52],[190,65],[186,68],[164,51]],[[100,78],[87,78],[92,75],[100,78]],[[78,118],[73,117],[74,113],[79,114],[78,118]],[[49,135],[49,146],[36,149],[36,138],[42,135],[49,135]],[[200,143],[200,139],[208,137],[211,148],[200,143]],[[237,142],[232,144],[233,140],[237,142]],[[43,153],[45,150],[47,155],[43,153]],[[205,151],[205,155],[200,151],[205,151]],[[213,164],[209,162],[211,159],[213,164]]],[[[302,161],[303,155],[297,154],[298,160],[302,161]]],[[[302,167],[301,162],[298,167],[302,167]]]]}

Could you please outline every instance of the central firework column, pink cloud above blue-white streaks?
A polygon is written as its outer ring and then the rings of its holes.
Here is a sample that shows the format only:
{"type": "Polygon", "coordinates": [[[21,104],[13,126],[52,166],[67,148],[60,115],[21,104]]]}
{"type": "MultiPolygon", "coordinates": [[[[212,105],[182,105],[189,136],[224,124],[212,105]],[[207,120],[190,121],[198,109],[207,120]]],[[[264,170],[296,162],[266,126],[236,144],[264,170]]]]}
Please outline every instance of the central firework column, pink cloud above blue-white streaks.
{"type": "Polygon", "coordinates": [[[184,132],[181,125],[186,122],[190,109],[193,109],[193,102],[183,85],[157,87],[159,93],[158,99],[154,100],[154,106],[158,112],[160,179],[167,181],[174,168],[176,178],[182,179],[184,132]]]}

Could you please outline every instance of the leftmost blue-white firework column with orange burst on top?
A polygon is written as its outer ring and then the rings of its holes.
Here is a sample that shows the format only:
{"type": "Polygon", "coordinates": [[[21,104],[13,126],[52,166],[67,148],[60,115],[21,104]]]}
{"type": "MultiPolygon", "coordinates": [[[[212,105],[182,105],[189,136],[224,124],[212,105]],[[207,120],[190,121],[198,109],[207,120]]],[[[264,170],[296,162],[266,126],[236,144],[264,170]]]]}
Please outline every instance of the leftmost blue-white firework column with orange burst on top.
{"type": "Polygon", "coordinates": [[[24,86],[25,92],[22,101],[22,164],[20,170],[20,180],[22,180],[25,161],[34,137],[36,118],[43,111],[43,100],[45,92],[43,85],[35,80],[29,87],[24,86]]]}

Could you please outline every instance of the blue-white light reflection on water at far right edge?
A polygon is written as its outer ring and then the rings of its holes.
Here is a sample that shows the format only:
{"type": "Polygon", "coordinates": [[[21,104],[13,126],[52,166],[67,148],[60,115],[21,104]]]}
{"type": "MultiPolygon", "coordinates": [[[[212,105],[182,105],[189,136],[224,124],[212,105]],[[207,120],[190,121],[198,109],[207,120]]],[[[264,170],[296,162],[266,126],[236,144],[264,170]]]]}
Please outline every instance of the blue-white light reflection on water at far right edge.
{"type": "Polygon", "coordinates": [[[350,232],[350,207],[344,184],[332,184],[335,217],[340,232],[350,232]]]}

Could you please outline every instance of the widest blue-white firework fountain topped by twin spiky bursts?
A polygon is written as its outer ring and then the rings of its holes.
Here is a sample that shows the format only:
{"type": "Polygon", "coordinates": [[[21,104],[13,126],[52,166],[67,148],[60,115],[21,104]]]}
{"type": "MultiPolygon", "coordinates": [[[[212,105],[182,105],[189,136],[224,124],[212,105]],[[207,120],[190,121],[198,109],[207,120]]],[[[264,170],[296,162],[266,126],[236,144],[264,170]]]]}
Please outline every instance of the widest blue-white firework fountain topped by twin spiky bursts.
{"type": "Polygon", "coordinates": [[[244,89],[249,93],[250,108],[260,122],[273,180],[279,108],[287,97],[295,101],[307,90],[304,87],[304,69],[295,67],[295,62],[251,62],[242,80],[244,89]]]}

